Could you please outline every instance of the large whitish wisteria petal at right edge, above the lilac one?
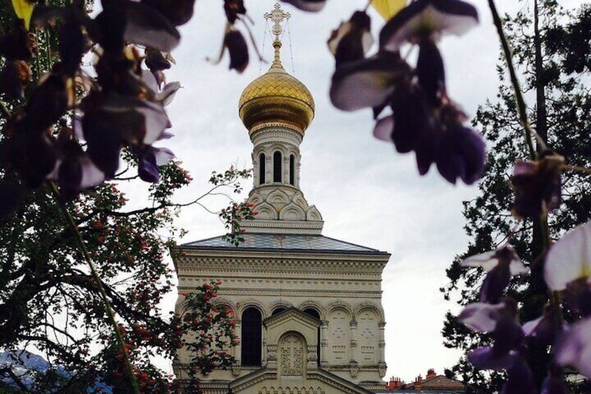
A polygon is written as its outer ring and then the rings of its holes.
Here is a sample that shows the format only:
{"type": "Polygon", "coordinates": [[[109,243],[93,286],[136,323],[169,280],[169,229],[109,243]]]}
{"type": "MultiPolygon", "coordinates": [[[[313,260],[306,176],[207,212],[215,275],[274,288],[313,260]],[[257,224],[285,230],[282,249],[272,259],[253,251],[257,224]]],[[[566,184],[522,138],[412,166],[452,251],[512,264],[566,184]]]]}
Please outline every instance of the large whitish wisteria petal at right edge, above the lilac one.
{"type": "Polygon", "coordinates": [[[544,279],[552,290],[565,290],[569,283],[591,277],[591,222],[562,236],[548,252],[544,279]]]}

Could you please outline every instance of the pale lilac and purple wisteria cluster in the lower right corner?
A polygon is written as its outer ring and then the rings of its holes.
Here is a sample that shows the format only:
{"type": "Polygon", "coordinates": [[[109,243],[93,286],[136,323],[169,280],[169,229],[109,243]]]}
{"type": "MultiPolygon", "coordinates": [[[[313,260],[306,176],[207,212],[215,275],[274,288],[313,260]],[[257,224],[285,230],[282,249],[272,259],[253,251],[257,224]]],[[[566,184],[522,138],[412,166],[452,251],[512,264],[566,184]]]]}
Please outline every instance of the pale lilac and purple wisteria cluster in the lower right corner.
{"type": "Polygon", "coordinates": [[[480,266],[487,271],[479,303],[466,306],[459,320],[468,328],[491,333],[493,345],[475,349],[468,360],[477,368],[507,370],[505,392],[535,393],[530,365],[525,362],[525,341],[551,347],[553,361],[542,393],[565,393],[562,367],[576,368],[591,377],[591,222],[576,227],[551,246],[544,259],[544,280],[555,291],[564,307],[575,317],[572,325],[563,322],[560,305],[550,303],[542,316],[519,323],[519,310],[513,298],[502,298],[509,275],[527,273],[527,268],[505,247],[470,257],[463,266],[480,266]],[[578,319],[576,319],[578,317],[578,319]]]}

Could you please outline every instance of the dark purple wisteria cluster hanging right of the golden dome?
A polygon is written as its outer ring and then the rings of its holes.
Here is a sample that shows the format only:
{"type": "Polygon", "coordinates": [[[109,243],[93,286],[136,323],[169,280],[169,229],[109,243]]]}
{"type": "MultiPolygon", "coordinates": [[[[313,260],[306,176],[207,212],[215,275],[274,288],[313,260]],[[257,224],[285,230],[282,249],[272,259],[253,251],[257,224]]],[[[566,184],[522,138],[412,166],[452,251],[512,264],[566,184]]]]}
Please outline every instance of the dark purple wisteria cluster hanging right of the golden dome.
{"type": "Polygon", "coordinates": [[[367,57],[369,17],[354,13],[328,42],[337,63],[332,104],[344,111],[373,108],[374,135],[400,153],[414,151],[421,175],[435,163],[447,181],[474,183],[484,169],[485,144],[464,126],[466,114],[447,96],[437,41],[443,33],[460,35],[477,22],[476,9],[461,0],[413,1],[383,26],[378,53],[367,57]],[[414,67],[400,56],[406,43],[419,48],[414,67]],[[388,107],[391,114],[382,115],[388,107]]]}

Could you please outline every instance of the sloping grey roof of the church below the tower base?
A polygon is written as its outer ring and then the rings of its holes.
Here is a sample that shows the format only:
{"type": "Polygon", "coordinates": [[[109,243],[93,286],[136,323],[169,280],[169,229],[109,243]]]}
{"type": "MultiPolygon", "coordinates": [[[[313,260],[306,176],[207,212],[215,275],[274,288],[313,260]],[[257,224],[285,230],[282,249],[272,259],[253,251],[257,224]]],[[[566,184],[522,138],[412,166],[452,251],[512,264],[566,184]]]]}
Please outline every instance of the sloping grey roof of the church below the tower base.
{"type": "Polygon", "coordinates": [[[180,248],[190,249],[228,249],[228,250],[284,250],[298,252],[338,252],[338,253],[367,253],[371,255],[383,254],[380,250],[367,248],[354,243],[339,241],[323,235],[308,234],[242,234],[244,242],[236,246],[224,241],[223,236],[202,239],[185,243],[180,248]]]}

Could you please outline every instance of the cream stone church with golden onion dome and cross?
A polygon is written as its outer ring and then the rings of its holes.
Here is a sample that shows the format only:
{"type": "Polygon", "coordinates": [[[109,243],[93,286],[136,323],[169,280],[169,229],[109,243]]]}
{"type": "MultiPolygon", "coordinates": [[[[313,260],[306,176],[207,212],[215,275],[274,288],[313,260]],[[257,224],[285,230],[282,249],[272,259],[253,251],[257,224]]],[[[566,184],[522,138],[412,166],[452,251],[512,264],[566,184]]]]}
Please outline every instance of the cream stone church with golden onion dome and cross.
{"type": "MultiPolygon", "coordinates": [[[[386,373],[381,276],[390,254],[322,234],[323,218],[300,189],[300,144],[314,98],[284,70],[275,6],[275,56],[238,104],[252,142],[257,211],[245,241],[222,236],[185,243],[174,261],[178,291],[221,281],[218,302],[237,317],[236,364],[201,378],[206,394],[370,394],[386,373]]],[[[182,301],[179,296],[177,307],[182,301]]],[[[179,350],[175,373],[190,355],[179,350]]]]}

